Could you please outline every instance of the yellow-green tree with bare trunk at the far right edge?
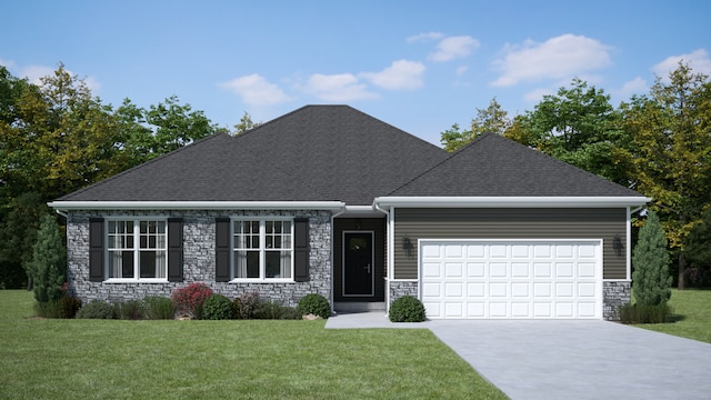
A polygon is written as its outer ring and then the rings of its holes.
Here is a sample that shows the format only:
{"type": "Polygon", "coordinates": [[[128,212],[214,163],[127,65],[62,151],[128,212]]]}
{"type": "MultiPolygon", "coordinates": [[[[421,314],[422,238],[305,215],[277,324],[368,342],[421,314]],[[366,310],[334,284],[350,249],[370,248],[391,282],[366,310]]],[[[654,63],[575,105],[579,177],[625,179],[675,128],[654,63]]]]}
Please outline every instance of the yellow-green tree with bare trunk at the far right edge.
{"type": "Polygon", "coordinates": [[[688,238],[711,203],[711,82],[680,62],[669,82],[658,77],[649,96],[621,109],[635,189],[653,199],[651,208],[679,253],[679,289],[684,289],[688,238]]]}

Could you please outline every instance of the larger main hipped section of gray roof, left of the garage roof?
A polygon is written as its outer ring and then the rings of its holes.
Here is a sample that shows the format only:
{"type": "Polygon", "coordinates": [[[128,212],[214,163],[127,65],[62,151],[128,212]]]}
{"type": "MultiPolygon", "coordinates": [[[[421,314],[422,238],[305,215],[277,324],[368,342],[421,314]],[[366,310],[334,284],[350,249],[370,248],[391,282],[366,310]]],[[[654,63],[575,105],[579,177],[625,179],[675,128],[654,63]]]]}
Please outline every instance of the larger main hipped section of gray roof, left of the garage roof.
{"type": "Polygon", "coordinates": [[[371,204],[449,154],[348,106],[307,106],[217,134],[58,201],[343,201],[371,204]]]}

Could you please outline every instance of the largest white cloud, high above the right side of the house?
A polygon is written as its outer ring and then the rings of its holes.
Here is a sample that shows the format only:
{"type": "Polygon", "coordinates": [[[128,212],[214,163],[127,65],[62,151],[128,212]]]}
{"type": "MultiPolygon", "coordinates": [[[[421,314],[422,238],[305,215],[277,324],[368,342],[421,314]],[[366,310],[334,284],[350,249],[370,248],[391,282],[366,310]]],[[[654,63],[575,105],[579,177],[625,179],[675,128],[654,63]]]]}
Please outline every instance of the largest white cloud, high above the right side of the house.
{"type": "Polygon", "coordinates": [[[508,87],[521,81],[569,79],[610,63],[610,47],[595,39],[562,34],[543,43],[527,40],[518,46],[507,44],[503,57],[494,61],[502,74],[492,84],[508,87]]]}

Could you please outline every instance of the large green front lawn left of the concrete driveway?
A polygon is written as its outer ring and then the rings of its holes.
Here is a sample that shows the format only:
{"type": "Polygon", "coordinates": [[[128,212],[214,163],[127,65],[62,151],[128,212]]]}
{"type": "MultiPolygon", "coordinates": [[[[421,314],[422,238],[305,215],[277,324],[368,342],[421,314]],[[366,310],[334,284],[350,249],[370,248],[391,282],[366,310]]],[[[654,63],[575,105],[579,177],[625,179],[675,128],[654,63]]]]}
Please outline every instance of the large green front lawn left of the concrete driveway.
{"type": "Polygon", "coordinates": [[[1,399],[505,399],[429,330],[52,320],[0,291],[1,399]]]}

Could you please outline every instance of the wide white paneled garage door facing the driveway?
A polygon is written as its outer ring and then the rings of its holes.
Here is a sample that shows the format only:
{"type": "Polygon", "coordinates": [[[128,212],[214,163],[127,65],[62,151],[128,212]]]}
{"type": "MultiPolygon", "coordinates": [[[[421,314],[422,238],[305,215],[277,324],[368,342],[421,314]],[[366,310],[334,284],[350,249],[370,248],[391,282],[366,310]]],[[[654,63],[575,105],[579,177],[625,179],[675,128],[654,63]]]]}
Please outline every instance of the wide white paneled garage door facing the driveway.
{"type": "Polygon", "coordinates": [[[601,319],[601,240],[427,240],[428,318],[601,319]]]}

